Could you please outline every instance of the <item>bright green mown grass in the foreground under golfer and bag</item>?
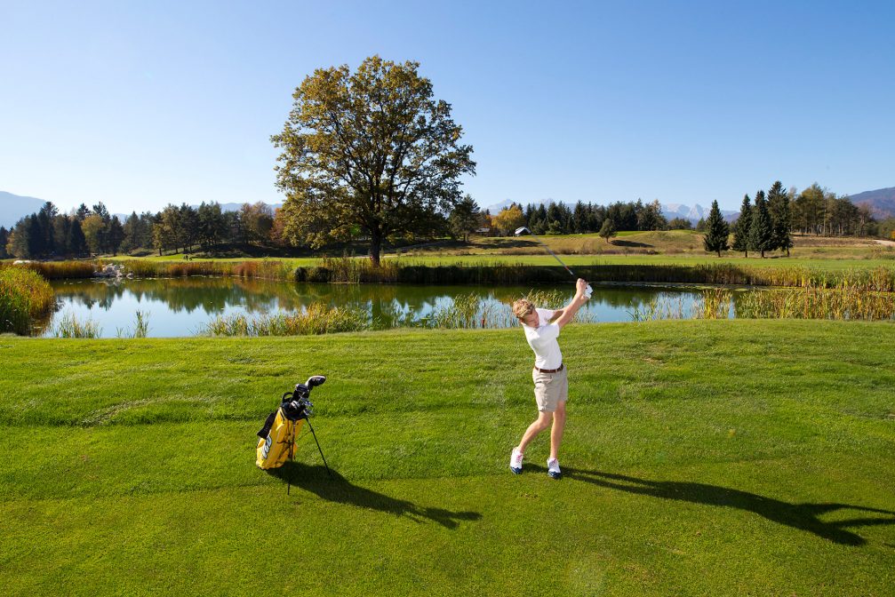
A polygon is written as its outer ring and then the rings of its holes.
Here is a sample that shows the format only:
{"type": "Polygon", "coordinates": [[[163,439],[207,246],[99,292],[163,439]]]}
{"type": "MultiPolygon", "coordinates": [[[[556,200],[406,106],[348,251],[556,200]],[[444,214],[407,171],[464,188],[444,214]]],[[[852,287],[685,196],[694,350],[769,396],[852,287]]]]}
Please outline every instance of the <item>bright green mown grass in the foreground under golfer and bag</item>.
{"type": "Polygon", "coordinates": [[[4,595],[891,595],[895,326],[573,325],[561,463],[518,329],[0,337],[4,595]],[[254,433],[312,373],[281,474],[254,433]],[[293,482],[286,495],[286,482],[293,482]]]}

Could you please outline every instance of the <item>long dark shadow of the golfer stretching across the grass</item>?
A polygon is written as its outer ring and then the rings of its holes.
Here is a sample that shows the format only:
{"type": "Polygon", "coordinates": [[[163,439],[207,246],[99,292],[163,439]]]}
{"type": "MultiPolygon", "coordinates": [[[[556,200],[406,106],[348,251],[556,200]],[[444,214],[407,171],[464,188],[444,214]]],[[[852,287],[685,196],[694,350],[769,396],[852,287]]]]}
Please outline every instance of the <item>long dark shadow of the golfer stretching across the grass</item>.
{"type": "Polygon", "coordinates": [[[599,471],[583,471],[567,468],[565,476],[576,481],[584,481],[611,490],[626,491],[638,495],[661,499],[677,499],[706,506],[735,507],[740,510],[754,512],[780,525],[814,533],[818,537],[842,545],[864,545],[865,539],[847,529],[856,526],[895,525],[895,512],[875,507],[853,506],[849,504],[790,504],[780,499],[765,498],[748,491],[733,490],[706,483],[651,481],[638,479],[623,474],[600,473],[599,471]],[[823,522],[818,516],[836,510],[857,510],[885,515],[865,516],[823,522]]]}

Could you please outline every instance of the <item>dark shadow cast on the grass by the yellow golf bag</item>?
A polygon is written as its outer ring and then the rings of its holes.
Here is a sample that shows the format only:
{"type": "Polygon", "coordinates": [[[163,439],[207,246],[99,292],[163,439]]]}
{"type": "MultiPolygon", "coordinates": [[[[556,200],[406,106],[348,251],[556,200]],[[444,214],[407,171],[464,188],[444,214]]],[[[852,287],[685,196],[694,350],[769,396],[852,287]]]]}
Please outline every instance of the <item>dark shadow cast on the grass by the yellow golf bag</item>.
{"type": "Polygon", "coordinates": [[[323,466],[311,466],[287,460],[283,466],[268,469],[267,472],[277,479],[291,483],[294,487],[310,491],[320,499],[379,510],[395,516],[407,516],[416,522],[429,519],[448,529],[455,529],[461,520],[482,518],[478,512],[452,512],[440,507],[420,507],[405,499],[390,498],[384,493],[352,485],[332,468],[329,471],[332,476],[327,474],[327,469],[323,466]]]}

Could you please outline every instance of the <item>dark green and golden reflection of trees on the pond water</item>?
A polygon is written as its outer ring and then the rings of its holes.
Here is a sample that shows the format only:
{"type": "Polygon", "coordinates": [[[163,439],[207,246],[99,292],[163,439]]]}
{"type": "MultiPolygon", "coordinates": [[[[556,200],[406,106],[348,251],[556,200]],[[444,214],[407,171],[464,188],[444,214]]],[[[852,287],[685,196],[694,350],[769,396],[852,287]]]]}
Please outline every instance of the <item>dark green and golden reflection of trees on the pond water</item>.
{"type": "MultiPolygon", "coordinates": [[[[574,287],[557,286],[413,286],[413,285],[342,285],[296,284],[281,281],[234,277],[187,277],[131,279],[116,282],[57,281],[57,296],[88,309],[108,310],[117,300],[129,298],[138,303],[163,303],[174,312],[200,311],[216,314],[238,307],[247,313],[303,311],[311,303],[348,306],[366,311],[379,327],[400,327],[419,323],[433,311],[444,309],[457,295],[478,297],[482,314],[499,325],[512,325],[510,305],[533,290],[557,290],[571,298],[574,287]],[[504,317],[509,314],[509,316],[504,317]],[[495,314],[499,317],[495,318],[495,314]]],[[[631,310],[657,296],[668,294],[692,305],[700,294],[689,289],[678,291],[655,287],[597,286],[587,310],[631,310]]],[[[738,293],[737,293],[738,294],[738,293]]],[[[490,326],[489,326],[490,327],[490,326]]]]}

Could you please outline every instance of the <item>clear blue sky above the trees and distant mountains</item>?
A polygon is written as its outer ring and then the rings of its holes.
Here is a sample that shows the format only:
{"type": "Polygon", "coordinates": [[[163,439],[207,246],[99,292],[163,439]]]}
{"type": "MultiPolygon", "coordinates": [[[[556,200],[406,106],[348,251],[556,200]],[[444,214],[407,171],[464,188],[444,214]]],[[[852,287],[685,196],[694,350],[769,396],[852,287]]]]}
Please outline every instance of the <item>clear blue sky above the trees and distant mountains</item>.
{"type": "Polygon", "coordinates": [[[278,202],[292,91],[373,54],[453,105],[482,207],[895,185],[895,3],[428,4],[0,0],[0,191],[278,202]]]}

